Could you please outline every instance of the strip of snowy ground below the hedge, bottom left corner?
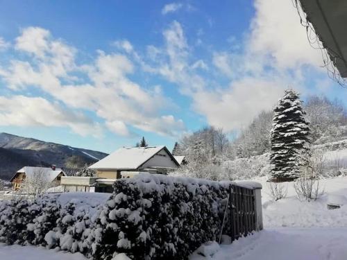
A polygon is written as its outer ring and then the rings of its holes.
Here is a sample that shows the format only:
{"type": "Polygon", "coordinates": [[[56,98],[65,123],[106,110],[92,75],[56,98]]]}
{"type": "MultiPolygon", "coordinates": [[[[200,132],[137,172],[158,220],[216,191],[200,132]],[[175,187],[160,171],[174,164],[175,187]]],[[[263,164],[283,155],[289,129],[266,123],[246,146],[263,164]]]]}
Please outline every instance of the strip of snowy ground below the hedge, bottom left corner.
{"type": "Polygon", "coordinates": [[[83,254],[56,252],[46,248],[0,244],[0,259],[6,260],[87,260],[83,254]]]}

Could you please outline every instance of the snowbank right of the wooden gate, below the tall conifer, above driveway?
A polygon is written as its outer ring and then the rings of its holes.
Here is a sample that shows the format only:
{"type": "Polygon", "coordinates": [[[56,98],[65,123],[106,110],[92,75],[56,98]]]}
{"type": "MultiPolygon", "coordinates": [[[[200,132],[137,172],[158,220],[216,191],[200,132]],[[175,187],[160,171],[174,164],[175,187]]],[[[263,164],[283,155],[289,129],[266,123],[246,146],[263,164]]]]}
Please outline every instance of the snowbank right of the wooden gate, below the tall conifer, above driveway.
{"type": "Polygon", "coordinates": [[[340,209],[327,208],[330,196],[347,196],[347,177],[320,180],[324,194],[316,201],[300,201],[296,197],[293,182],[284,182],[287,197],[273,201],[269,196],[266,178],[262,183],[262,212],[264,228],[273,227],[347,227],[347,205],[340,209]]]}

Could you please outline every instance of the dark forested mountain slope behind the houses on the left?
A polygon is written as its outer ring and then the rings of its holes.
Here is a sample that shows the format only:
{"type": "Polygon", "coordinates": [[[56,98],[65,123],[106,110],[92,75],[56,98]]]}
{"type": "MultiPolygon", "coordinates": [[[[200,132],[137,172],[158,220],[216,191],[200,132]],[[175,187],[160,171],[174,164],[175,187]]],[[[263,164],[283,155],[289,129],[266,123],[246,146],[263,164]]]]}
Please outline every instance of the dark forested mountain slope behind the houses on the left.
{"type": "Polygon", "coordinates": [[[0,133],[0,179],[9,180],[23,166],[75,168],[93,164],[107,153],[0,133]]]}

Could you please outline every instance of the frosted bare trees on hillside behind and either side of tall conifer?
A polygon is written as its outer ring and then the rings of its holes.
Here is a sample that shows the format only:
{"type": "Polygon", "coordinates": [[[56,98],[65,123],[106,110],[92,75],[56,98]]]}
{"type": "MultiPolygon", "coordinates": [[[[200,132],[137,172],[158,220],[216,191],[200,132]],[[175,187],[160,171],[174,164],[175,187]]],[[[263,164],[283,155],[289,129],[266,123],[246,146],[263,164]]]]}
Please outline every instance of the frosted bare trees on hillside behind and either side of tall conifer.
{"type": "MultiPolygon", "coordinates": [[[[326,96],[310,96],[304,103],[304,110],[310,122],[312,144],[347,138],[347,110],[340,101],[331,101],[326,96]]],[[[211,180],[242,177],[239,173],[250,169],[253,173],[249,175],[260,174],[266,167],[266,153],[271,148],[272,124],[273,111],[262,111],[246,128],[239,130],[235,138],[213,126],[183,137],[173,150],[174,155],[184,155],[188,162],[180,171],[211,180]],[[264,155],[264,162],[253,162],[257,155],[264,155]],[[249,167],[245,170],[244,165],[249,167]]]]}

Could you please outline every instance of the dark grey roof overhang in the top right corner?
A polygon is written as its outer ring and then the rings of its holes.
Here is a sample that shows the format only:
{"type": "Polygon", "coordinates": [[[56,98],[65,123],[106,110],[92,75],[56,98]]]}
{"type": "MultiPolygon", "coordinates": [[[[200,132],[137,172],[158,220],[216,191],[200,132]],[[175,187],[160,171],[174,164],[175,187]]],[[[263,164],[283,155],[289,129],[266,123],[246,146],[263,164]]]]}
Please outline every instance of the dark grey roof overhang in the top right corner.
{"type": "Polygon", "coordinates": [[[342,78],[347,78],[347,1],[299,0],[330,60],[342,78]]]}

